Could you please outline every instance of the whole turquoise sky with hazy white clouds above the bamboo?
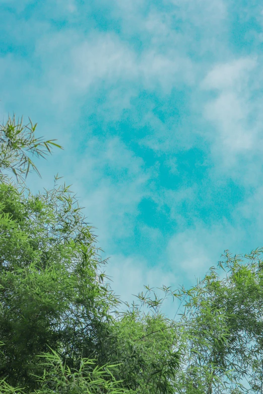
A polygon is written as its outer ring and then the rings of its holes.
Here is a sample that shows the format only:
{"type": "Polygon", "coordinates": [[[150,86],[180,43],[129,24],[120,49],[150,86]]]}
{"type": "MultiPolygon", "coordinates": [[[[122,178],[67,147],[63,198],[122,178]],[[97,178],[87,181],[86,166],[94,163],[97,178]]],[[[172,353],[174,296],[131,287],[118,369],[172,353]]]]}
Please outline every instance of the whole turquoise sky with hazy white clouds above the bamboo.
{"type": "Polygon", "coordinates": [[[189,287],[263,246],[263,5],[0,0],[0,117],[64,147],[112,288],[189,287]]]}

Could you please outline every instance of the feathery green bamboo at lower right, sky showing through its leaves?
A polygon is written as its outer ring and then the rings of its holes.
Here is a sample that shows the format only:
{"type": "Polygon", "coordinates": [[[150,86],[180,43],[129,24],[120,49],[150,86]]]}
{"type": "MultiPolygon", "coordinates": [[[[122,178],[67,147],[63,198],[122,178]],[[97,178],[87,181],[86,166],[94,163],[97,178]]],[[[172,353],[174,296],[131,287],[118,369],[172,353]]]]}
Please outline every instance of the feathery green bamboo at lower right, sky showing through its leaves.
{"type": "Polygon", "coordinates": [[[217,269],[177,292],[184,303],[178,392],[263,392],[262,253],[226,251],[217,269]]]}

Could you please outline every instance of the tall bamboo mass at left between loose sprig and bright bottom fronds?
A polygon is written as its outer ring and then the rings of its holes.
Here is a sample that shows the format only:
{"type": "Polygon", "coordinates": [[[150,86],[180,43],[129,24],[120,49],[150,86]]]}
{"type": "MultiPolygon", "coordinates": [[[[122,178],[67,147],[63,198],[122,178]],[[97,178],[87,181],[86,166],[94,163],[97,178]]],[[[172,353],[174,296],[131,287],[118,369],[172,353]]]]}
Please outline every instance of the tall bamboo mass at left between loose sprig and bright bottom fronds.
{"type": "Polygon", "coordinates": [[[37,355],[59,350],[70,367],[96,355],[100,326],[117,303],[97,278],[94,237],[65,187],[25,197],[0,185],[0,371],[35,387],[37,355]],[[88,350],[87,350],[88,349],[88,350]]]}

